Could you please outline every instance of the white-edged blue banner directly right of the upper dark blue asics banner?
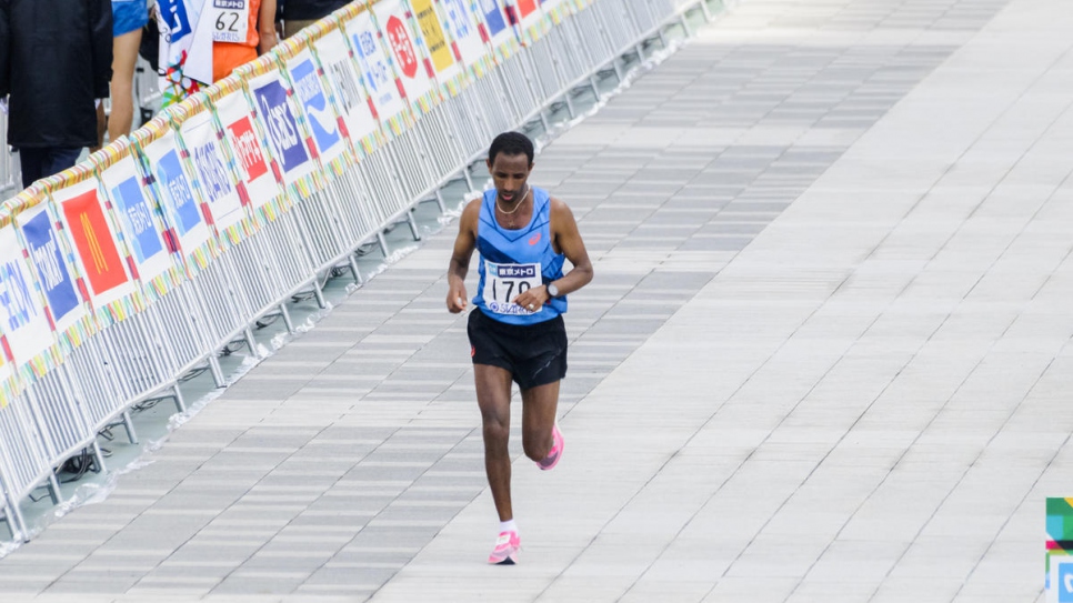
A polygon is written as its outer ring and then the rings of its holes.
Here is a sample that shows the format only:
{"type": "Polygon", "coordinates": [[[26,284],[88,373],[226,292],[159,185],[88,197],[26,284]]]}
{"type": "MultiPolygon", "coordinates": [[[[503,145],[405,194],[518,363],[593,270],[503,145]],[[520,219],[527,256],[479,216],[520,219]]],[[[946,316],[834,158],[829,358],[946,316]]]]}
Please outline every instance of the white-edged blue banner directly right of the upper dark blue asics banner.
{"type": "Polygon", "coordinates": [[[345,139],[347,125],[335,114],[329,102],[328,91],[313,62],[313,52],[305,46],[292,56],[282,53],[280,57],[283,68],[290,79],[291,90],[298,100],[300,113],[309,125],[317,145],[321,162],[331,165],[339,174],[343,167],[340,161],[347,160],[348,144],[345,139]]]}

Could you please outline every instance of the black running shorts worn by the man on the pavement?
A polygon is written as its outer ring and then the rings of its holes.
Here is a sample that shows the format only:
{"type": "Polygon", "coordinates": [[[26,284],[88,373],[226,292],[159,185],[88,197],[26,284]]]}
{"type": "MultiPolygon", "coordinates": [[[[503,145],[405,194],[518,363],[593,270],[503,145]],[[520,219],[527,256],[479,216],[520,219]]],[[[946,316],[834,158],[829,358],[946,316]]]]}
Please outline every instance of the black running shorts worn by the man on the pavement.
{"type": "Polygon", "coordinates": [[[566,376],[566,326],[562,316],[536,324],[507,324],[480,309],[467,326],[473,364],[490,364],[511,373],[523,390],[566,376]]]}

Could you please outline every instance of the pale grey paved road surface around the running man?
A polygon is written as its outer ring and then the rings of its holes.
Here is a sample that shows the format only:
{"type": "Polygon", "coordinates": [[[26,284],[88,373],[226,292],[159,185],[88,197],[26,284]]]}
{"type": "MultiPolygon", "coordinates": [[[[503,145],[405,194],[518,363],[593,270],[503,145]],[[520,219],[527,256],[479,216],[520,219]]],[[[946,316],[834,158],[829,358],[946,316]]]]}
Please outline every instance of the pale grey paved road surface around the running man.
{"type": "Polygon", "coordinates": [[[0,600],[1042,601],[1071,49],[1066,0],[745,0],[544,149],[596,279],[555,471],[513,418],[518,566],[483,563],[449,229],[0,561],[0,600]]]}

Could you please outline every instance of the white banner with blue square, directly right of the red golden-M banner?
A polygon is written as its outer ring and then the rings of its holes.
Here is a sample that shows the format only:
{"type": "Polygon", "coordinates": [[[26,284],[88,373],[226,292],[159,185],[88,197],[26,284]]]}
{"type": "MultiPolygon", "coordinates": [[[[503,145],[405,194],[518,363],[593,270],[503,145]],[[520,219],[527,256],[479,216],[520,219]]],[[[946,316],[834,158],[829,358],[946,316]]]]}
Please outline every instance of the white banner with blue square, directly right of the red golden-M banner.
{"type": "Polygon", "coordinates": [[[163,295],[179,284],[180,277],[162,234],[160,208],[148,194],[133,148],[128,144],[116,149],[110,144],[104,150],[114,150],[116,154],[108,159],[110,164],[99,167],[98,178],[120,224],[138,279],[147,291],[163,295]]]}

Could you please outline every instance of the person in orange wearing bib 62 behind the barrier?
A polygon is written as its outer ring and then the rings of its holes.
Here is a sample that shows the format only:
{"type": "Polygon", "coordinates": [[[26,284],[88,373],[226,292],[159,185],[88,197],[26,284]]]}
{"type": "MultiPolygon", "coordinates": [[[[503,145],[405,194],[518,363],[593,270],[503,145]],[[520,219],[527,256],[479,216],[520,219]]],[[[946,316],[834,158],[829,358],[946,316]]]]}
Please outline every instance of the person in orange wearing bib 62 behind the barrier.
{"type": "Polygon", "coordinates": [[[205,0],[212,24],[212,81],[227,78],[278,43],[275,1],[205,0]]]}

